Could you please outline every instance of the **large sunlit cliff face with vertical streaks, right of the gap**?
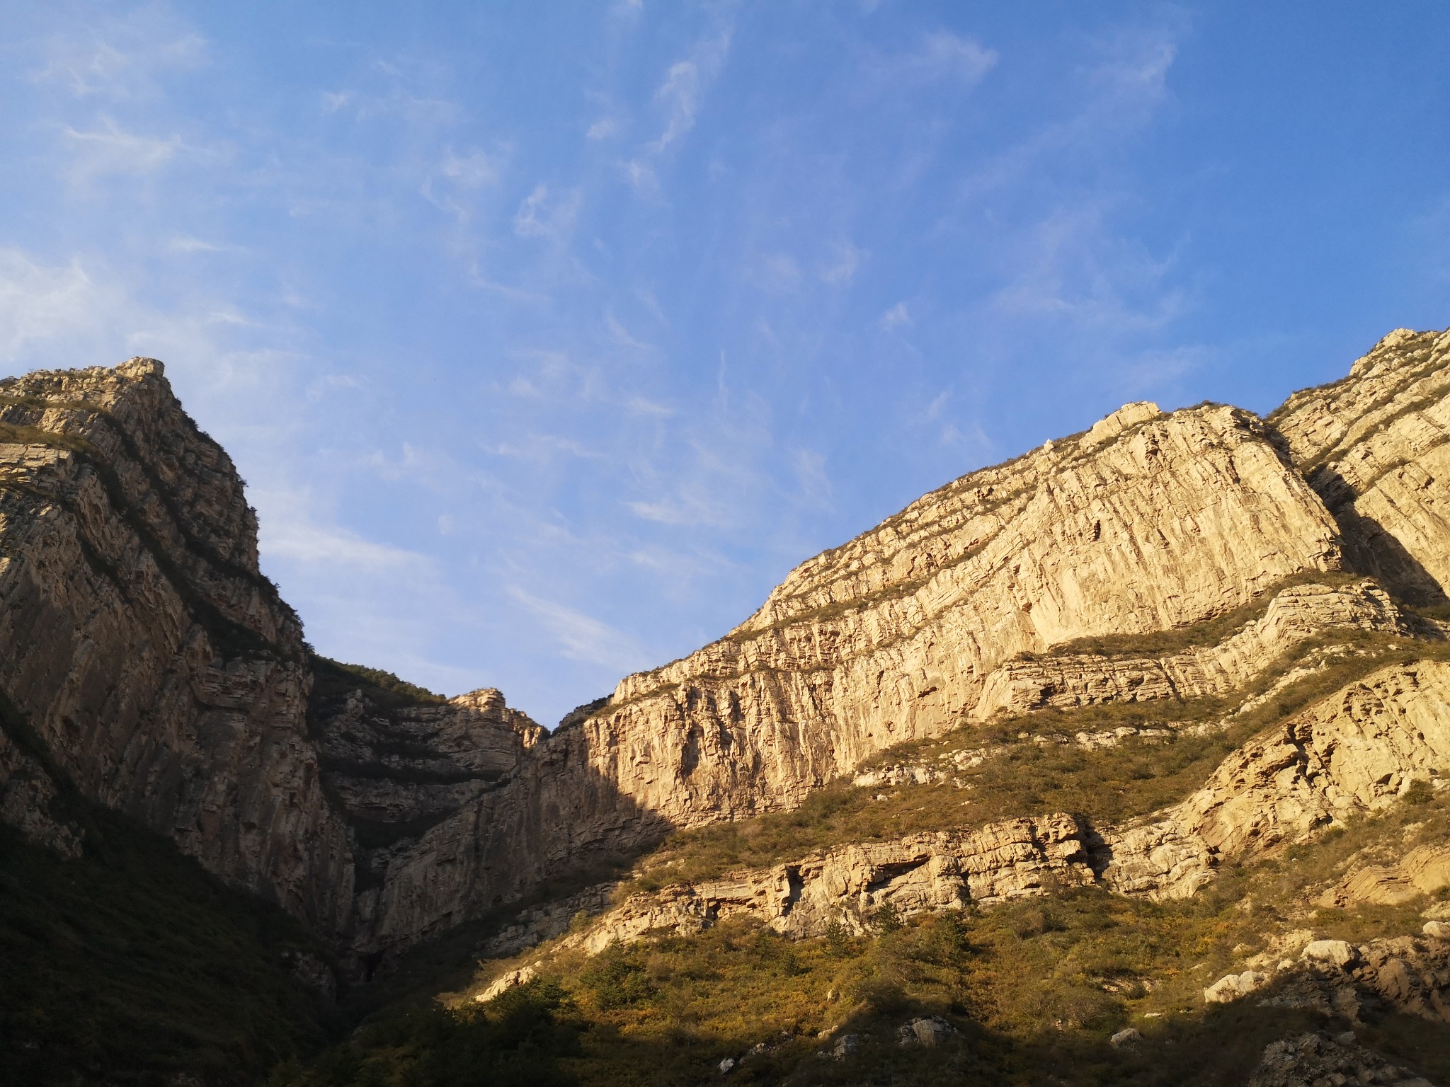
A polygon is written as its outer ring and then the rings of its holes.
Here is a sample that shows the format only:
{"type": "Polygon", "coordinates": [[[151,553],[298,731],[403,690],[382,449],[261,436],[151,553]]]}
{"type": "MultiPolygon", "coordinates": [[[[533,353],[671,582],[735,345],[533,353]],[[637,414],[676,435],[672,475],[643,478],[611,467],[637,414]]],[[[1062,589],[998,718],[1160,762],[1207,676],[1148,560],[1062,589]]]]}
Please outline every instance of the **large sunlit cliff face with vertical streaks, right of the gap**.
{"type": "Polygon", "coordinates": [[[1254,416],[1130,404],[811,559],[581,728],[599,774],[674,825],[787,807],[972,716],[1024,652],[1190,625],[1337,564],[1333,519],[1254,416]]]}

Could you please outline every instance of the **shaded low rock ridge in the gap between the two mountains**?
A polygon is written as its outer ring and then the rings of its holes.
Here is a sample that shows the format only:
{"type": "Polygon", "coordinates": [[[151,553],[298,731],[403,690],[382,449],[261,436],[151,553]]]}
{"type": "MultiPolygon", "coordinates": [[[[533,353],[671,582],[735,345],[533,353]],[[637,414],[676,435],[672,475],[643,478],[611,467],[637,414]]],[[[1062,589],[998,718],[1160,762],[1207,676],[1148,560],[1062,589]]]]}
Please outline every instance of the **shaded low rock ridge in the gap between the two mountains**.
{"type": "Polygon", "coordinates": [[[419,701],[319,662],[310,722],[357,859],[364,958],[518,903],[642,833],[590,780],[577,730],[547,736],[497,690],[419,701]]]}

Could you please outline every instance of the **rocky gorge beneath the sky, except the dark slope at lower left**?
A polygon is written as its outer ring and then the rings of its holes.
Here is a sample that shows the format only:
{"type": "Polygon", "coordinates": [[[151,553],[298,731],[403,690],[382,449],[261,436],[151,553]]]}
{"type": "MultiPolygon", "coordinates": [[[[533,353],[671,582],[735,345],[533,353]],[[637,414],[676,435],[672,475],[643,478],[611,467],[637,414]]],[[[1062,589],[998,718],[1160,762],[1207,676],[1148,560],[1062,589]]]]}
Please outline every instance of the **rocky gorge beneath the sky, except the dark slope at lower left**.
{"type": "Polygon", "coordinates": [[[552,730],[315,654],[160,362],[6,378],[0,820],[168,841],[329,1007],[464,968],[278,1084],[1443,1080],[1447,362],[1128,404],[552,730]]]}

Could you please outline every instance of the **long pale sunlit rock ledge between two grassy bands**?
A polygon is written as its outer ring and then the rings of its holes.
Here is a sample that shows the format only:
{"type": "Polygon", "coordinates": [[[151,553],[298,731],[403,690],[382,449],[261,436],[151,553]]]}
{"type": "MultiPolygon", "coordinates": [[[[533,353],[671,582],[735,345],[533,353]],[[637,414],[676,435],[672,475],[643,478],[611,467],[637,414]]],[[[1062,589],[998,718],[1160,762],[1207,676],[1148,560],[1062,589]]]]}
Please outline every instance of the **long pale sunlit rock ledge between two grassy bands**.
{"type": "Polygon", "coordinates": [[[1211,881],[1221,862],[1380,810],[1417,780],[1446,787],[1447,768],[1450,662],[1393,665],[1262,733],[1202,788],[1141,826],[1098,830],[1057,813],[840,846],[634,894],[564,945],[597,952],[742,915],[796,938],[819,936],[832,923],[861,932],[884,907],[909,916],[1093,883],[1180,899],[1211,881]]]}

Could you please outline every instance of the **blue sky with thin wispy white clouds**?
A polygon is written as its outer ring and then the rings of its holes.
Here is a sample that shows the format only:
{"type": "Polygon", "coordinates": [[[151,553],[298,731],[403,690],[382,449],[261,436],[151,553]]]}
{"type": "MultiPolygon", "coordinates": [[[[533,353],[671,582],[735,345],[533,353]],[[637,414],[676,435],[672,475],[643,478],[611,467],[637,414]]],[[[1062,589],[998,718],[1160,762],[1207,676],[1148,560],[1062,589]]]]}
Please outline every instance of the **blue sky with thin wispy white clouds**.
{"type": "Polygon", "coordinates": [[[1450,325],[1450,7],[0,1],[3,368],[154,355],[319,651],[542,723],[1127,400],[1450,325]]]}

